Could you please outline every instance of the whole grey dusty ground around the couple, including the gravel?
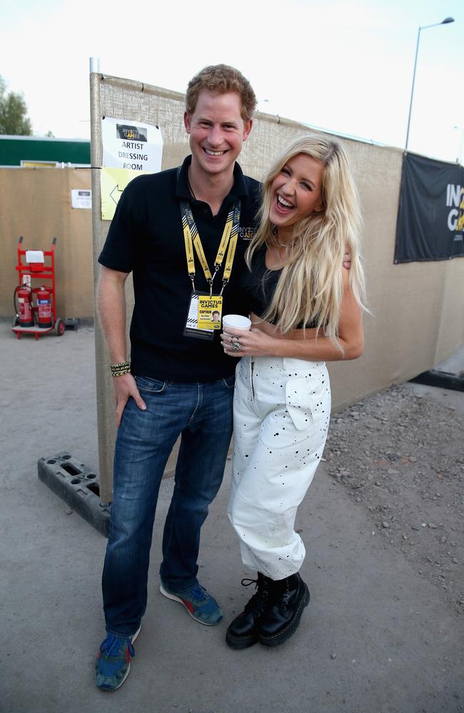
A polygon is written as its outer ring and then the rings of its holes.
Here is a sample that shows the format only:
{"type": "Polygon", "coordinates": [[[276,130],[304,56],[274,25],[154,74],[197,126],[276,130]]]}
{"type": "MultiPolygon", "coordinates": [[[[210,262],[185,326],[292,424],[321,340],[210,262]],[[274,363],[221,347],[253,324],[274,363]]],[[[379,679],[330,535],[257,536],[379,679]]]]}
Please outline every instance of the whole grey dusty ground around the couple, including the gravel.
{"type": "MultiPolygon", "coordinates": [[[[159,593],[173,488],[166,478],[149,605],[131,677],[116,699],[96,689],[93,674],[104,630],[106,542],[37,478],[37,459],[56,451],[98,467],[93,329],[18,341],[5,322],[0,351],[2,712],[113,713],[134,702],[143,713],[464,709],[457,603],[464,394],[403,384],[332,414],[327,462],[298,510],[311,605],[295,637],[276,650],[232,652],[224,643],[226,623],[249,596],[241,577],[253,576],[241,568],[226,517],[230,461],[200,560],[202,582],[223,603],[225,621],[199,627],[159,593]],[[179,663],[186,656],[188,670],[179,663]]],[[[453,373],[463,369],[464,347],[456,364],[453,373]]]]}

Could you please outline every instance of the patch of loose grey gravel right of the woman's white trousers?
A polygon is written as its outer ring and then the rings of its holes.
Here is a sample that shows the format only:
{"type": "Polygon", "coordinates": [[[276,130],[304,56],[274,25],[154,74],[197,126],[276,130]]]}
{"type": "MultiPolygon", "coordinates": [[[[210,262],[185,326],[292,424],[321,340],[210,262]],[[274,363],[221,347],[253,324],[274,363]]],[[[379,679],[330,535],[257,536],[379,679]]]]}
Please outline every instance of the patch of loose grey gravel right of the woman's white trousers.
{"type": "Polygon", "coordinates": [[[324,451],[331,476],[368,512],[383,547],[399,548],[457,615],[464,613],[460,411],[392,386],[333,414],[324,451]]]}

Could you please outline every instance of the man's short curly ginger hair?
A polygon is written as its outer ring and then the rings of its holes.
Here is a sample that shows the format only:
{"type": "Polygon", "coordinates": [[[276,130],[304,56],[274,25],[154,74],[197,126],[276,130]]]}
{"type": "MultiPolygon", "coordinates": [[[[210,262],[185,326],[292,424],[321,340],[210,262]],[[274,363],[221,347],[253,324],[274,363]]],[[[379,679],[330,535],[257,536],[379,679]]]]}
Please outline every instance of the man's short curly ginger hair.
{"type": "Polygon", "coordinates": [[[198,95],[203,90],[225,94],[236,92],[240,96],[241,116],[243,121],[249,121],[256,109],[256,94],[238,69],[227,64],[216,64],[205,67],[188,82],[186,91],[186,112],[193,114],[198,101],[198,95]]]}

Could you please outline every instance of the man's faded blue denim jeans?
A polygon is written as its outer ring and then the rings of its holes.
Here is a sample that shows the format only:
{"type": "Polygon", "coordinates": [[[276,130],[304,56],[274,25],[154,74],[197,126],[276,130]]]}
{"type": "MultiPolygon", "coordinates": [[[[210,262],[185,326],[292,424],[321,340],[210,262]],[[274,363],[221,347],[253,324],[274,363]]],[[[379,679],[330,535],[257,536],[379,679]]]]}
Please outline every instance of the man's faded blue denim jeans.
{"type": "Polygon", "coordinates": [[[133,634],[145,612],[158,491],[179,435],[160,574],[176,592],[198,581],[201,525],[221,486],[231,441],[234,378],[181,384],[136,376],[147,408],[141,411],[128,400],[114,452],[114,499],[102,580],[110,633],[133,634]]]}

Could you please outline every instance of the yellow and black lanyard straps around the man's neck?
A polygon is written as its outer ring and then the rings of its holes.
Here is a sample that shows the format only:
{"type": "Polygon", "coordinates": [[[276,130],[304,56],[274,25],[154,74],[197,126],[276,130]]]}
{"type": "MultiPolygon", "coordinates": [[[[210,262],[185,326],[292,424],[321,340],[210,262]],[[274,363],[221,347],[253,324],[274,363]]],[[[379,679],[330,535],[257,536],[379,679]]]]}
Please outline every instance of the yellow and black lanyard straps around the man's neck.
{"type": "Polygon", "coordinates": [[[214,261],[214,274],[211,275],[211,271],[208,267],[208,262],[206,262],[205,253],[203,251],[203,245],[201,245],[200,234],[198,233],[198,228],[196,227],[195,220],[193,218],[193,213],[191,211],[190,205],[186,200],[181,200],[181,216],[182,216],[182,228],[183,228],[183,240],[186,245],[186,257],[187,257],[187,269],[188,276],[192,281],[193,289],[195,289],[195,260],[193,257],[193,246],[195,246],[196,254],[198,255],[198,260],[200,261],[201,267],[203,267],[203,272],[206,277],[206,281],[209,284],[210,294],[213,294],[213,279],[216,277],[216,273],[220,269],[224,255],[226,255],[226,265],[224,267],[222,289],[220,294],[223,293],[224,287],[231,279],[233,257],[235,256],[237,240],[238,240],[238,227],[240,225],[240,201],[237,200],[231,210],[229,210],[226,220],[226,225],[224,226],[223,234],[221,237],[221,244],[219,245],[218,254],[216,255],[216,260],[214,261]]]}

